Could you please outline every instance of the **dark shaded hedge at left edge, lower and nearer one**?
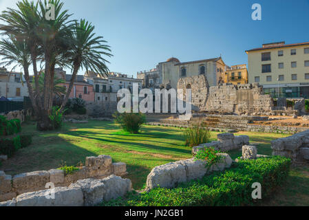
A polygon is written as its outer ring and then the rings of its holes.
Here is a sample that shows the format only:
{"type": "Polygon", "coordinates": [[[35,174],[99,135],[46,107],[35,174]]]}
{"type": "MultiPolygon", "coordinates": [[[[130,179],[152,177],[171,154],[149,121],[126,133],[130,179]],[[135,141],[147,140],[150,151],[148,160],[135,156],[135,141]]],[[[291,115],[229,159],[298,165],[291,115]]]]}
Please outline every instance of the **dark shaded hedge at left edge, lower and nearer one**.
{"type": "Polygon", "coordinates": [[[11,138],[0,138],[0,155],[12,157],[19,148],[25,148],[32,143],[31,135],[17,135],[11,138]]]}

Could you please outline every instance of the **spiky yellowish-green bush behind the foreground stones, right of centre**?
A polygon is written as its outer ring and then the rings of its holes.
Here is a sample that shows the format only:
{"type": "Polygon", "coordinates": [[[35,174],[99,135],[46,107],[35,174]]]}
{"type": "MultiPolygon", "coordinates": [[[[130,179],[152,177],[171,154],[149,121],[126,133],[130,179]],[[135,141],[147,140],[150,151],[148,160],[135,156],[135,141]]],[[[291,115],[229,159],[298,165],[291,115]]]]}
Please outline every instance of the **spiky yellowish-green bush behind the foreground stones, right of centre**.
{"type": "Polygon", "coordinates": [[[209,142],[211,132],[206,126],[195,124],[184,131],[184,137],[186,138],[185,145],[193,147],[209,142]]]}

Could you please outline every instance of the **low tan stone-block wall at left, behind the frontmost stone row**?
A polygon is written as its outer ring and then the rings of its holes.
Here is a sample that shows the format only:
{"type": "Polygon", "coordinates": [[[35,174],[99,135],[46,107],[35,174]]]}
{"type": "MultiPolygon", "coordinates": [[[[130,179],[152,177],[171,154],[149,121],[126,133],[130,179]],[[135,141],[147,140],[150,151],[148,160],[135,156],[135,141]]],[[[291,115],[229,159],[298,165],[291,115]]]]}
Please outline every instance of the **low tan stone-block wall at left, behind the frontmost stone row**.
{"type": "Polygon", "coordinates": [[[10,200],[25,192],[44,190],[47,183],[52,183],[54,186],[70,186],[78,179],[102,179],[109,175],[126,174],[126,164],[112,163],[111,157],[107,155],[86,157],[85,166],[67,175],[58,169],[21,173],[13,177],[0,171],[0,201],[10,200]]]}

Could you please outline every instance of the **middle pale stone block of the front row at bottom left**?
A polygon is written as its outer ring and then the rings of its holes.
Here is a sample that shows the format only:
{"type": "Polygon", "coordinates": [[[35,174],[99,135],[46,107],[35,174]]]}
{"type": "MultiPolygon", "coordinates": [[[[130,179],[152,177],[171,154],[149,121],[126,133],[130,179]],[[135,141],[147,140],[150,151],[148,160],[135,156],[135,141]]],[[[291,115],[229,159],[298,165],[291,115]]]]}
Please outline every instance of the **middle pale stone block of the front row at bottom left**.
{"type": "Polygon", "coordinates": [[[105,184],[102,179],[80,179],[70,187],[79,186],[83,190],[85,206],[94,206],[103,201],[105,184]]]}

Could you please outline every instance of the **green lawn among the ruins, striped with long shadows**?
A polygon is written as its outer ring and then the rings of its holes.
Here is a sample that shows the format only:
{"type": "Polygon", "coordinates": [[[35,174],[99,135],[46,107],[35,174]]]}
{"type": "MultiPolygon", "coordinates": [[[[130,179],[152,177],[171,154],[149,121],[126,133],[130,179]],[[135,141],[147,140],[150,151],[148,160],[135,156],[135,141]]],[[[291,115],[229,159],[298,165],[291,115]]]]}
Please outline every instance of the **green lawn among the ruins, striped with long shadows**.
{"type": "MultiPolygon", "coordinates": [[[[154,166],[191,158],[191,148],[184,146],[184,129],[164,126],[143,126],[141,133],[131,134],[121,131],[114,122],[90,120],[87,124],[66,123],[59,131],[36,131],[32,123],[23,124],[22,133],[32,134],[32,144],[22,148],[0,164],[0,170],[7,174],[25,173],[34,170],[58,168],[65,162],[67,166],[85,164],[85,157],[110,155],[113,162],[125,162],[135,189],[144,187],[147,175],[154,166]]],[[[211,141],[217,140],[217,132],[211,132],[211,141]]],[[[239,132],[248,135],[259,154],[271,154],[270,141],[288,135],[277,133],[239,132]]],[[[241,151],[229,152],[235,159],[241,151]]],[[[272,199],[275,204],[309,205],[309,167],[293,168],[288,185],[272,199]],[[295,193],[297,192],[297,193],[295,193]],[[301,197],[301,201],[297,199],[301,197]],[[281,199],[284,198],[284,199],[281,199]],[[286,202],[284,202],[286,201],[286,202]]]]}

